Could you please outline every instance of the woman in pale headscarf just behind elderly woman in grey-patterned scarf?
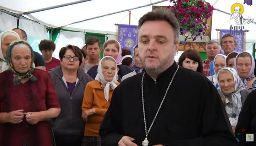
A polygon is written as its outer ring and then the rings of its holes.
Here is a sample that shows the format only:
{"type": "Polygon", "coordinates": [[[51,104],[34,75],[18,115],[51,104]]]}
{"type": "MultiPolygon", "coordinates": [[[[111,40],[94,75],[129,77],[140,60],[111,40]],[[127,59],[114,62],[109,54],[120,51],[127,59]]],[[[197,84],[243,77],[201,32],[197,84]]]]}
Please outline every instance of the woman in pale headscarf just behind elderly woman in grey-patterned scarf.
{"type": "Polygon", "coordinates": [[[214,75],[208,76],[207,78],[213,83],[214,87],[218,88],[218,80],[217,80],[217,74],[220,69],[226,67],[226,56],[222,54],[217,54],[213,60],[214,65],[214,75]]]}

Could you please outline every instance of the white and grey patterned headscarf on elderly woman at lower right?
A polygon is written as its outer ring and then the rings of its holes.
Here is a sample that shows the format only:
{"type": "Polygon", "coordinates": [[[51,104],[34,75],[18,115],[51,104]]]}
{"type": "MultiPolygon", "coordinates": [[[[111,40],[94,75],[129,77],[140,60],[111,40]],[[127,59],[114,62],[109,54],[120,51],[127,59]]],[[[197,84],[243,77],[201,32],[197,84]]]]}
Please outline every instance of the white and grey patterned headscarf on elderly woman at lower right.
{"type": "MultiPolygon", "coordinates": [[[[235,108],[236,115],[239,115],[239,113],[241,111],[241,107],[242,107],[240,91],[245,90],[245,88],[243,86],[244,83],[240,79],[240,77],[235,69],[233,69],[231,67],[225,67],[225,68],[220,69],[219,72],[221,70],[228,70],[233,75],[235,85],[234,85],[234,92],[231,93],[231,97],[232,97],[233,107],[235,108]]],[[[219,76],[219,73],[217,76],[219,76]]],[[[219,78],[218,78],[218,83],[219,83],[219,78]]],[[[220,87],[218,87],[218,90],[220,91],[220,93],[223,93],[225,96],[230,96],[230,94],[225,94],[220,87]]]]}

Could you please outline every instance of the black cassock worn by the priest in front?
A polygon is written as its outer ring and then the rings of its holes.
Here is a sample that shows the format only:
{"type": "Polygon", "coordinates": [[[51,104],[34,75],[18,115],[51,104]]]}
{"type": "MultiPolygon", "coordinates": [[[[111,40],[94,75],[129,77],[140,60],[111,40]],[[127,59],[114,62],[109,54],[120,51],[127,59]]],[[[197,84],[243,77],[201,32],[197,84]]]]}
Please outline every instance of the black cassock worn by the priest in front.
{"type": "MultiPolygon", "coordinates": [[[[143,88],[147,130],[177,67],[174,63],[156,81],[145,72],[143,88]]],[[[100,127],[105,145],[117,145],[124,135],[133,137],[133,142],[142,145],[145,139],[142,76],[143,72],[130,77],[114,90],[100,127]]],[[[203,74],[180,67],[149,132],[149,145],[236,145],[225,114],[212,83],[203,74]]]]}

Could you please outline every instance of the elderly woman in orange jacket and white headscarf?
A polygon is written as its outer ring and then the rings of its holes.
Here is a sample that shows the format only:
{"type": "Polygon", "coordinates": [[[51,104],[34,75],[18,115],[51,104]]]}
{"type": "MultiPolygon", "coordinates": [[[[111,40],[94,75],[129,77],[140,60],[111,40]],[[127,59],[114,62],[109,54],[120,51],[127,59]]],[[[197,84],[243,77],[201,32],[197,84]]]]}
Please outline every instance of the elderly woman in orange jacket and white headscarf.
{"type": "Polygon", "coordinates": [[[119,85],[116,66],[114,58],[103,57],[95,80],[86,85],[82,102],[82,118],[86,121],[82,146],[101,145],[100,124],[110,106],[113,90],[119,85]]]}

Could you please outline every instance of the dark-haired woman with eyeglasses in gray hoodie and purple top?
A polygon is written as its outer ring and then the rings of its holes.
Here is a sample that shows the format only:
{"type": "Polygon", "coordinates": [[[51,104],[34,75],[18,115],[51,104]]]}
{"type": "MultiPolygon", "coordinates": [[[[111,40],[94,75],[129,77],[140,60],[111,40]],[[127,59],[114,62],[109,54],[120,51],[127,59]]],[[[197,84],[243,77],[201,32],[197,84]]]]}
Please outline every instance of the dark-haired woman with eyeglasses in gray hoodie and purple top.
{"type": "Polygon", "coordinates": [[[53,124],[54,137],[57,146],[81,146],[85,126],[81,106],[86,84],[92,78],[79,69],[82,63],[79,48],[63,47],[59,58],[61,65],[49,71],[63,108],[53,124]]]}

